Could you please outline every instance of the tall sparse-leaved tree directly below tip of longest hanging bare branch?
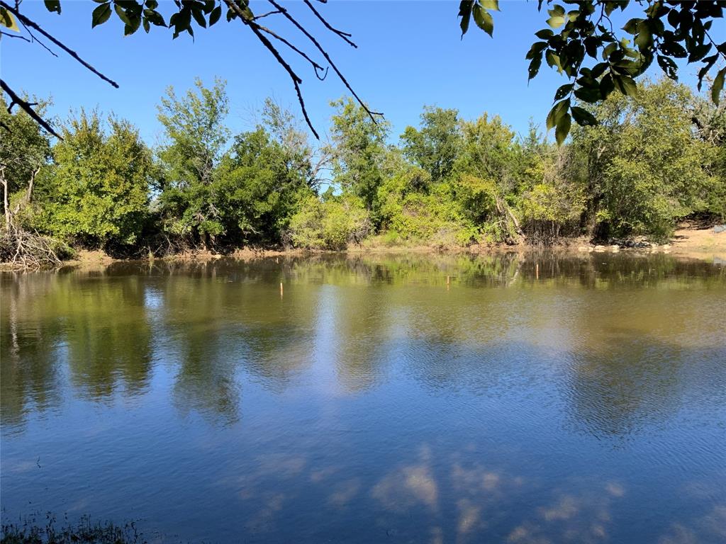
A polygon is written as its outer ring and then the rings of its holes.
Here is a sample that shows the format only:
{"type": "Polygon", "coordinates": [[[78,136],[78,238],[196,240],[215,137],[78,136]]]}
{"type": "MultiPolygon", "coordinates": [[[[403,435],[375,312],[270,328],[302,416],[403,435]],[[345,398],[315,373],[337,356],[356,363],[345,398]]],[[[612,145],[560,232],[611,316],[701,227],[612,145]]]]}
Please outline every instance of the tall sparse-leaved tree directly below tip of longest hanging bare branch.
{"type": "Polygon", "coordinates": [[[331,102],[330,105],[337,109],[330,129],[333,175],[343,191],[350,191],[361,198],[375,218],[378,187],[384,177],[389,125],[386,122],[376,123],[363,107],[350,98],[331,102]]]}

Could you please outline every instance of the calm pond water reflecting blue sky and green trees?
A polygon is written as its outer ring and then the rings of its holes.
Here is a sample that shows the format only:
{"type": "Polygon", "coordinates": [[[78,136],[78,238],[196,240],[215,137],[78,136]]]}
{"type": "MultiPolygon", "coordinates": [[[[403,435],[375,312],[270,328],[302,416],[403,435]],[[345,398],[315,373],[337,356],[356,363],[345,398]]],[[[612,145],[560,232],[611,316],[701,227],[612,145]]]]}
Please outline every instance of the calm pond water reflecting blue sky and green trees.
{"type": "Polygon", "coordinates": [[[6,274],[1,297],[4,522],[90,514],[195,543],[726,542],[725,265],[123,264],[6,274]]]}

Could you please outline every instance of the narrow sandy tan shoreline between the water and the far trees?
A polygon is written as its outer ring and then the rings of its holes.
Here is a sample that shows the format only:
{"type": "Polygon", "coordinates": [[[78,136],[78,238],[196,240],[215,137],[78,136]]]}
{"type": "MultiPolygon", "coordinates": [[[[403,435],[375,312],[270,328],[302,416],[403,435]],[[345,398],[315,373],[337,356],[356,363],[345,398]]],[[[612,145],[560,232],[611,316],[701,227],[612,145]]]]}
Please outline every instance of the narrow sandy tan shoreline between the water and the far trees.
{"type": "MultiPolygon", "coordinates": [[[[425,245],[412,246],[366,246],[365,244],[349,247],[346,250],[277,250],[240,248],[227,254],[213,253],[204,250],[184,252],[166,257],[139,259],[115,258],[103,250],[78,250],[76,258],[65,261],[58,268],[105,268],[113,263],[148,263],[156,260],[163,262],[208,262],[220,259],[251,260],[268,257],[301,257],[312,255],[495,255],[497,253],[531,253],[531,252],[569,253],[626,253],[629,255],[666,254],[684,259],[713,260],[726,263],[726,231],[714,232],[713,228],[680,228],[668,244],[650,244],[645,247],[621,247],[619,245],[592,244],[587,236],[567,238],[551,246],[532,244],[476,244],[468,247],[431,247],[425,245]]],[[[33,271],[32,268],[0,263],[0,271],[33,271]]]]}

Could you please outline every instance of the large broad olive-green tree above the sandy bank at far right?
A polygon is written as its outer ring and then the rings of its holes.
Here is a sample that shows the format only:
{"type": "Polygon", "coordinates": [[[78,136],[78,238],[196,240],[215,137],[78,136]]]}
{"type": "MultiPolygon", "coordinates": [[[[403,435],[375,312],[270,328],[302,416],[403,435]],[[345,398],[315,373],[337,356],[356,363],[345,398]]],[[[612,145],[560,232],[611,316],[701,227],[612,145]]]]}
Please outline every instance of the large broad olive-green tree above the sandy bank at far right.
{"type": "Polygon", "coordinates": [[[587,160],[588,223],[597,236],[666,240],[677,218],[696,210],[710,155],[692,112],[690,90],[667,79],[592,109],[600,124],[576,131],[574,147],[587,160]]]}

